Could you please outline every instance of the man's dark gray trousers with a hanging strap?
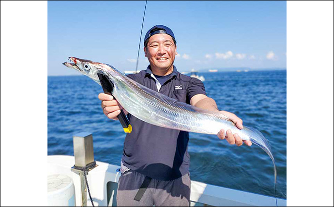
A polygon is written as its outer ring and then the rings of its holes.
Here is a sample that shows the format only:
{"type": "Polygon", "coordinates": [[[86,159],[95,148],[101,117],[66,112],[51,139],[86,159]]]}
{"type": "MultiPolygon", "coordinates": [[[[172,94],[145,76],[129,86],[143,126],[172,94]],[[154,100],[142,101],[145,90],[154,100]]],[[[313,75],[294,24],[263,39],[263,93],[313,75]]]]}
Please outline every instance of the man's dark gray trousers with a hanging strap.
{"type": "Polygon", "coordinates": [[[134,200],[145,175],[129,170],[118,181],[117,206],[188,207],[190,205],[189,173],[175,180],[152,179],[140,201],[134,200]]]}

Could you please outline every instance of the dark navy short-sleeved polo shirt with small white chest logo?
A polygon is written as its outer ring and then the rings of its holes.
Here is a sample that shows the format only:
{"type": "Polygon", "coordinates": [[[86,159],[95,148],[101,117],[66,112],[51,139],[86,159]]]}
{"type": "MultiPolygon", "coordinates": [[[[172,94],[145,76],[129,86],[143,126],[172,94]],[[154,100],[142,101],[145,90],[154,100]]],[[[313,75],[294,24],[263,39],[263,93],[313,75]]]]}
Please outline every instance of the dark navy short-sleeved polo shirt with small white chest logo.
{"type": "MultiPolygon", "coordinates": [[[[187,104],[190,104],[193,96],[206,94],[202,81],[179,73],[175,65],[171,76],[163,85],[152,74],[150,65],[146,71],[130,74],[128,77],[187,104]]],[[[131,114],[128,117],[133,129],[124,141],[122,162],[126,167],[158,180],[173,180],[188,173],[188,132],[157,127],[131,114]]]]}

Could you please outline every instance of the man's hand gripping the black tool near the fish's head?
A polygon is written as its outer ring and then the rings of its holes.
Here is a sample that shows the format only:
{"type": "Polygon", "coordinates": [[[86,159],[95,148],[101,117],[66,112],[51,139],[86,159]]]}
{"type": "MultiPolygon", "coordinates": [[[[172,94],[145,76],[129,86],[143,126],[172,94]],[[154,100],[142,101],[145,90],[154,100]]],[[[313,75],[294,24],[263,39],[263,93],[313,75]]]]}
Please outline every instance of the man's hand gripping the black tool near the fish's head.
{"type": "MultiPolygon", "coordinates": [[[[101,102],[101,107],[103,113],[109,118],[113,120],[118,120],[117,116],[121,113],[123,107],[120,103],[114,99],[113,96],[107,95],[104,93],[99,94],[99,99],[101,102]]],[[[126,110],[123,110],[125,115],[128,114],[126,110]]]]}

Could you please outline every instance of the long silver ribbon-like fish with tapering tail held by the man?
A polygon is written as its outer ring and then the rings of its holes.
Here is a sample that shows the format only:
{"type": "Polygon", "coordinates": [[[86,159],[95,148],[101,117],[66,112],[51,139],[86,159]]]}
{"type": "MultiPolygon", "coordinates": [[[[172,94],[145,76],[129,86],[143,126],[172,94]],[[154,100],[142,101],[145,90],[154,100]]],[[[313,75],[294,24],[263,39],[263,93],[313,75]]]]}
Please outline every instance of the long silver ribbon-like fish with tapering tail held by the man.
{"type": "Polygon", "coordinates": [[[273,161],[276,184],[276,165],[271,148],[266,138],[257,129],[245,126],[239,129],[227,116],[179,102],[153,91],[129,79],[111,65],[75,57],[69,57],[69,61],[63,64],[80,71],[100,85],[97,73],[104,74],[114,84],[112,95],[121,106],[144,122],[159,127],[204,134],[217,134],[222,128],[225,131],[230,129],[233,134],[238,133],[242,140],[250,140],[257,144],[273,161]]]}

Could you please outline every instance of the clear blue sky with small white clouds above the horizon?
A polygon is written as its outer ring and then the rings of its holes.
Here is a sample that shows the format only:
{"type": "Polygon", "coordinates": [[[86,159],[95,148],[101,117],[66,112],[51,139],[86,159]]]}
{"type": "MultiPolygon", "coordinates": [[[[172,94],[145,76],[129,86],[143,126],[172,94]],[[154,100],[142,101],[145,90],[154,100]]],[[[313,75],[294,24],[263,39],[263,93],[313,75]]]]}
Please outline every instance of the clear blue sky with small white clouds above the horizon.
{"type": "MultiPolygon", "coordinates": [[[[48,1],[48,75],[79,75],[69,56],[136,68],[145,1],[48,1]]],[[[286,1],[148,1],[138,69],[149,64],[143,38],[172,29],[179,71],[195,68],[286,68],[286,1]]]]}

